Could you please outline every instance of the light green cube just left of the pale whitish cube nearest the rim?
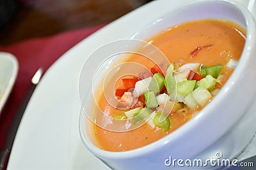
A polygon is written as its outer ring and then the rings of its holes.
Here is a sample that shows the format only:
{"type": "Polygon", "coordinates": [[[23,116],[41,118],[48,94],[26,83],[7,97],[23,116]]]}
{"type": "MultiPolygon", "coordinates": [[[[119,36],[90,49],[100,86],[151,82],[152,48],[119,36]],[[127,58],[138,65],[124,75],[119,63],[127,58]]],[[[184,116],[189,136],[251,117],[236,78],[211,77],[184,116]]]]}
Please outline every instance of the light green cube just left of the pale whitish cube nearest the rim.
{"type": "Polygon", "coordinates": [[[189,93],[193,92],[195,88],[196,80],[184,80],[177,84],[177,94],[182,96],[187,96],[189,93]]]}

